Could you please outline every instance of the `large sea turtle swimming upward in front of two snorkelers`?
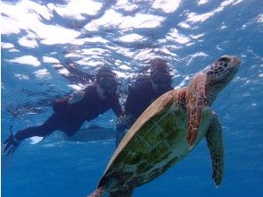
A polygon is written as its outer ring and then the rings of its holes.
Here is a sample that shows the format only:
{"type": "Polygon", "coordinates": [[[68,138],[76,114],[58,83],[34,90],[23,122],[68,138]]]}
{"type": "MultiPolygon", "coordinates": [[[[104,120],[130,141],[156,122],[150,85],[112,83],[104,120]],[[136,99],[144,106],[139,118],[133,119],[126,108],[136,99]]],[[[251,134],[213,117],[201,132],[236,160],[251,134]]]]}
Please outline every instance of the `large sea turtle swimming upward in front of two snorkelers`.
{"type": "Polygon", "coordinates": [[[204,136],[212,159],[212,178],[218,186],[224,168],[222,127],[210,106],[240,63],[234,56],[222,56],[196,73],[188,87],[168,91],[155,100],[126,133],[90,196],[131,196],[135,187],[186,157],[204,136]]]}

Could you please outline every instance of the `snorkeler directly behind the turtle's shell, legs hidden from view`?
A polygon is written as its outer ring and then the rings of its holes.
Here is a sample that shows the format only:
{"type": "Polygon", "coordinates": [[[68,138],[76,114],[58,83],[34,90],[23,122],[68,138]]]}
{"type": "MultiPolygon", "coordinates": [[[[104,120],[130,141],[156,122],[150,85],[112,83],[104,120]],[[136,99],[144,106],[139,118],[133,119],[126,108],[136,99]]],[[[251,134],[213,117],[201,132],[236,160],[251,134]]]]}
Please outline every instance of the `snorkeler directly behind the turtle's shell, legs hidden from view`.
{"type": "Polygon", "coordinates": [[[154,100],[166,91],[174,90],[171,78],[172,75],[164,59],[156,58],[150,61],[149,76],[139,77],[129,87],[124,105],[124,116],[119,119],[116,127],[116,146],[122,141],[131,125],[154,100]]]}

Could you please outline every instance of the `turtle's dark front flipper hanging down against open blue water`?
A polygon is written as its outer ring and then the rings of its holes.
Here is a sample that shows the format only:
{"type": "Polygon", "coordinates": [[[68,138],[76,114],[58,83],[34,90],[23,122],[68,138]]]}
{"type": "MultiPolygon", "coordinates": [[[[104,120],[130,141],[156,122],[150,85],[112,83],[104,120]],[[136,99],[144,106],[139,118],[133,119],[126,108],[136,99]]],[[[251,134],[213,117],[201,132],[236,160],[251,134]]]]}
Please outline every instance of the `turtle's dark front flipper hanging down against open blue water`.
{"type": "Polygon", "coordinates": [[[216,186],[221,184],[224,171],[224,146],[221,131],[221,124],[218,117],[213,112],[212,121],[209,125],[208,132],[206,133],[206,139],[212,160],[212,178],[214,179],[216,186]]]}

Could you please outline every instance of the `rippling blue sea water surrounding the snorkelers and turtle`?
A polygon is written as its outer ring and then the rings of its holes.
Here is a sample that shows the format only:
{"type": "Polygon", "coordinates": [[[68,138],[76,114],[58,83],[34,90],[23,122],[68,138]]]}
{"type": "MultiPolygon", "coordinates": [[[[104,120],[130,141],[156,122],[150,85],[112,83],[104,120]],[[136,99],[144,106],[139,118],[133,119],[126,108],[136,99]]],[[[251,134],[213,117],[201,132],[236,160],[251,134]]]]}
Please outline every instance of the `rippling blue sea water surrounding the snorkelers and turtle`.
{"type": "MultiPolygon", "coordinates": [[[[174,87],[219,56],[239,56],[239,73],[213,105],[224,128],[223,184],[215,187],[201,141],[134,196],[263,196],[263,1],[22,0],[2,1],[1,8],[2,142],[10,124],[17,131],[44,122],[51,101],[84,87],[89,77],[81,74],[100,64],[118,74],[123,102],[127,85],[154,56],[168,60],[174,87]]],[[[115,120],[108,112],[83,127],[114,128],[115,120]]],[[[2,169],[2,196],[86,196],[114,150],[115,141],[55,134],[36,145],[23,141],[2,169]]]]}

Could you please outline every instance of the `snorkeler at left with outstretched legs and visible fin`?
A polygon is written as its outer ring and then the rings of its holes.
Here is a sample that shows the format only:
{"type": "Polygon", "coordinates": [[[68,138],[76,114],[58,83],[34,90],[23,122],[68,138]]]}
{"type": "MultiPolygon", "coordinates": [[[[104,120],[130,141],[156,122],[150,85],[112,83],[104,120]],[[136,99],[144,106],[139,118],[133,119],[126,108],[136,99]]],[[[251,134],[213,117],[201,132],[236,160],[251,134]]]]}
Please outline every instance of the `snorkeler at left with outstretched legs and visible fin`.
{"type": "Polygon", "coordinates": [[[86,120],[95,119],[111,108],[116,116],[123,116],[116,91],[116,74],[108,67],[101,68],[92,85],[74,92],[69,97],[55,100],[54,113],[44,124],[20,130],[14,135],[11,134],[1,147],[2,155],[12,154],[21,141],[32,136],[45,137],[55,130],[72,136],[78,132],[86,120]]]}

